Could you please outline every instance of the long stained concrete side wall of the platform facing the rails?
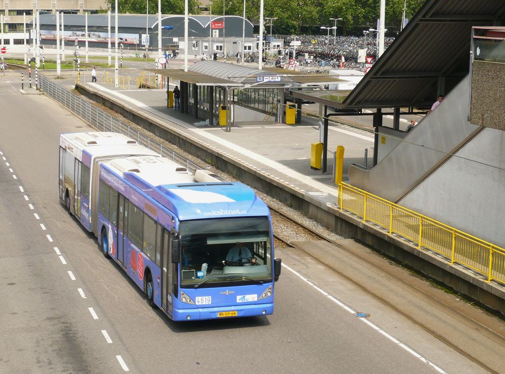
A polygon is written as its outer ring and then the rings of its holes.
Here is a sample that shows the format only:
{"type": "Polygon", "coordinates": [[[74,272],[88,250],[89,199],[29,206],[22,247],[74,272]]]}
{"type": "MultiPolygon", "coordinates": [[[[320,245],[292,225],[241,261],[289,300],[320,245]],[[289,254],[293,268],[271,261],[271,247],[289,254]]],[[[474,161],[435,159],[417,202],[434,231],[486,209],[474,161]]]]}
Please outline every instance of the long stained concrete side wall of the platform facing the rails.
{"type": "Polygon", "coordinates": [[[388,235],[387,232],[362,222],[360,218],[351,214],[339,211],[338,208],[327,206],[322,201],[222,155],[205,144],[179,134],[169,124],[147,118],[143,113],[128,108],[99,91],[94,91],[90,87],[80,84],[76,85],[76,89],[86,97],[120,113],[145,130],[306,214],[333,232],[346,238],[359,240],[373,247],[377,252],[394,258],[435,281],[505,315],[505,287],[487,283],[483,277],[460,266],[450,265],[436,254],[418,250],[415,244],[394,235],[388,235]]]}

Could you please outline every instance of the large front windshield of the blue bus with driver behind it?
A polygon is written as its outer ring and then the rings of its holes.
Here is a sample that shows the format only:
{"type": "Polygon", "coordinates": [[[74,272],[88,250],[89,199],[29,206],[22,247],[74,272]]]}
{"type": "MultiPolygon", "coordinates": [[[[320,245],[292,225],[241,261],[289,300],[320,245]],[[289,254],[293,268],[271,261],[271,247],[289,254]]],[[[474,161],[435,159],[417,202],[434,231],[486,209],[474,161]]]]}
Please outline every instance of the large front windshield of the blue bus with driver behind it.
{"type": "Polygon", "coordinates": [[[180,224],[180,234],[181,287],[272,281],[268,217],[185,221],[180,224]]]}

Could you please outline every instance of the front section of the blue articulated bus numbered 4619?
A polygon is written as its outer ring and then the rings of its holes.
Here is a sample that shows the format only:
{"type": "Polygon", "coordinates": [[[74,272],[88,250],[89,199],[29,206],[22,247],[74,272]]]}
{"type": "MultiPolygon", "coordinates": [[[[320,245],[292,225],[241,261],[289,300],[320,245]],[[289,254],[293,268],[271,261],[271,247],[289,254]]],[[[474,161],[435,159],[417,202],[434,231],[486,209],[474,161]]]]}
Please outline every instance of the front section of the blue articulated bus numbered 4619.
{"type": "Polygon", "coordinates": [[[84,226],[149,305],[175,321],[273,313],[281,261],[270,211],[250,188],[159,155],[102,159],[89,176],[97,198],[84,226]]]}

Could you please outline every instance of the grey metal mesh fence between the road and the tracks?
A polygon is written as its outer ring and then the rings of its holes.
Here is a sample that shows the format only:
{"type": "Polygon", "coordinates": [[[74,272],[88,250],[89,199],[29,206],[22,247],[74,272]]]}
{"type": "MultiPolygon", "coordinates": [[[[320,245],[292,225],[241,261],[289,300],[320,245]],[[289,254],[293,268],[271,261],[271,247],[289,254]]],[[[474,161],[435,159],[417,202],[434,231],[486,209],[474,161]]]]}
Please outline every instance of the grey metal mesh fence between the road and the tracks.
{"type": "Polygon", "coordinates": [[[137,143],[158,152],[161,156],[172,159],[180,165],[186,165],[186,168],[191,172],[201,169],[201,167],[195,163],[189,161],[178,153],[167,149],[163,144],[150,139],[138,130],[132,129],[128,126],[128,124],[121,122],[119,119],[113,117],[105,111],[91,105],[89,102],[81,99],[77,95],[66,90],[57,83],[52,82],[46,77],[39,76],[39,82],[40,89],[48,96],[51,96],[55,100],[61,102],[98,130],[124,134],[129,138],[136,140],[137,143]]]}

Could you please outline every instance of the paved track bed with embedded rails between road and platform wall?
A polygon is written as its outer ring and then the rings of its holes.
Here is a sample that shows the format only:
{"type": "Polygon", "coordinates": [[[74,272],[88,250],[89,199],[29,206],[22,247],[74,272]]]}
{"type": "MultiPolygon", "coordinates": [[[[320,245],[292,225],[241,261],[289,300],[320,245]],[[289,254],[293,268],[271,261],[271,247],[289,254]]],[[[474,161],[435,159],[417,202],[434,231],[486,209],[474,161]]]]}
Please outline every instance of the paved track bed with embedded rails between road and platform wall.
{"type": "Polygon", "coordinates": [[[447,296],[449,296],[449,294],[433,287],[433,285],[426,280],[417,279],[416,282],[410,282],[409,280],[413,278],[412,275],[410,279],[406,279],[405,276],[401,276],[405,275],[405,270],[398,272],[398,266],[391,265],[389,261],[384,261],[380,256],[372,256],[371,259],[370,255],[351,250],[349,247],[308,227],[297,219],[289,217],[276,208],[270,206],[270,210],[274,222],[274,238],[277,244],[297,248],[312,256],[312,254],[306,250],[307,247],[304,248],[304,245],[300,245],[299,239],[293,240],[286,237],[286,227],[288,226],[296,233],[296,237],[305,235],[306,239],[304,240],[312,240],[313,243],[311,243],[311,245],[313,246],[317,246],[318,241],[321,241],[321,244],[333,244],[336,247],[336,252],[340,253],[340,256],[351,257],[353,261],[364,264],[370,272],[374,273],[375,277],[379,278],[384,276],[389,279],[391,283],[394,282],[393,284],[398,287],[398,292],[408,292],[413,295],[412,297],[417,299],[420,304],[426,305],[426,307],[434,307],[437,315],[446,321],[446,328],[440,329],[439,326],[433,324],[429,316],[424,315],[422,312],[415,314],[411,313],[409,310],[412,309],[411,304],[397,302],[397,295],[390,295],[389,293],[381,294],[381,292],[379,292],[380,287],[370,287],[366,284],[367,282],[363,280],[363,276],[353,273],[350,269],[345,268],[345,266],[338,268],[334,266],[331,261],[326,261],[324,258],[316,258],[318,262],[328,266],[332,271],[345,278],[348,282],[356,285],[381,303],[392,308],[396,313],[421,327],[430,335],[472,360],[482,368],[492,373],[505,372],[505,367],[501,364],[503,362],[503,353],[505,353],[503,348],[505,347],[505,329],[501,327],[501,329],[503,329],[501,331],[503,332],[499,332],[498,330],[500,329],[499,325],[502,325],[503,321],[498,320],[494,316],[485,314],[480,309],[468,305],[468,303],[455,303],[450,301],[455,299],[453,296],[452,299],[449,297],[448,301],[447,296]],[[276,227],[282,227],[282,229],[278,230],[282,231],[282,234],[276,233],[276,227]],[[375,257],[377,261],[375,261],[373,257],[375,257]],[[401,275],[399,275],[399,273],[401,275]],[[419,285],[419,283],[424,283],[424,285],[419,285]],[[471,315],[469,315],[469,313],[471,313],[471,315]],[[456,334],[454,329],[450,328],[455,325],[459,325],[461,329],[456,334]],[[475,349],[476,346],[482,348],[482,340],[486,342],[486,347],[484,348],[488,353],[486,358],[482,357],[482,349],[475,349]],[[477,352],[481,354],[477,354],[477,352]],[[494,359],[491,357],[494,357],[494,359]]]}

